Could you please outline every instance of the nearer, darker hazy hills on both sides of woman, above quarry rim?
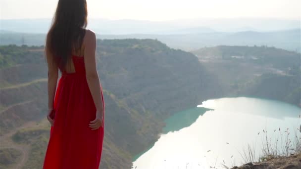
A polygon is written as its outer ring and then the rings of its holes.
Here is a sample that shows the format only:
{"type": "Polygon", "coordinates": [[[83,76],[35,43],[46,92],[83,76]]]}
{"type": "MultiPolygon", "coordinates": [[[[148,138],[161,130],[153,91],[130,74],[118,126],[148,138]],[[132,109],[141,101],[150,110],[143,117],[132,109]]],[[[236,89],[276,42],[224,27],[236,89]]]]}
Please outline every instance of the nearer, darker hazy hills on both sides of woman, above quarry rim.
{"type": "MultiPolygon", "coordinates": [[[[154,32],[153,32],[154,33],[154,32]]],[[[291,29],[271,32],[217,32],[211,28],[185,28],[170,31],[156,32],[157,34],[124,34],[105,35],[98,34],[99,39],[153,39],[166,43],[173,48],[186,51],[196,50],[200,47],[217,45],[249,45],[274,46],[290,51],[301,52],[301,30],[291,29]]],[[[44,45],[45,33],[31,34],[18,33],[7,30],[0,32],[0,45],[27,44],[44,45]]]]}

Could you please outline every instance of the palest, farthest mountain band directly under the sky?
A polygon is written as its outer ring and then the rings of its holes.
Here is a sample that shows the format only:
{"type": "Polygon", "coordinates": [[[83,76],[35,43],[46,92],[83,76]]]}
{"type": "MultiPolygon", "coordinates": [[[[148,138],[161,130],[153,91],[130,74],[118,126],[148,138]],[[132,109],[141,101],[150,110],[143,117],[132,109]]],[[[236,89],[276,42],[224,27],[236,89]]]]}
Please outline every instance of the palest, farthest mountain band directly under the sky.
{"type": "MultiPolygon", "coordinates": [[[[0,29],[21,33],[46,34],[51,19],[0,20],[0,29]]],[[[237,18],[237,19],[181,19],[169,21],[89,19],[88,29],[100,35],[124,34],[194,34],[216,32],[270,32],[300,29],[300,20],[237,18]]]]}

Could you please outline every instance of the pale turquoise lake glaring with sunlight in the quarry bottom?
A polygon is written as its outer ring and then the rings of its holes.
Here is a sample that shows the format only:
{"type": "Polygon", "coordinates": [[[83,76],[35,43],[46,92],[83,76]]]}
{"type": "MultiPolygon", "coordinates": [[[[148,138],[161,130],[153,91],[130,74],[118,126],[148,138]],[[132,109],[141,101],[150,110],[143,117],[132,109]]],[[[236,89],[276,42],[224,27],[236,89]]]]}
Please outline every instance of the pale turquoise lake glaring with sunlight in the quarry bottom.
{"type": "Polygon", "coordinates": [[[248,146],[259,159],[268,138],[280,151],[300,139],[301,109],[280,101],[211,99],[166,119],[159,139],[133,161],[133,169],[209,169],[246,163],[248,146]],[[290,134],[288,134],[290,133],[290,134]],[[278,141],[277,141],[278,140],[278,141]]]}

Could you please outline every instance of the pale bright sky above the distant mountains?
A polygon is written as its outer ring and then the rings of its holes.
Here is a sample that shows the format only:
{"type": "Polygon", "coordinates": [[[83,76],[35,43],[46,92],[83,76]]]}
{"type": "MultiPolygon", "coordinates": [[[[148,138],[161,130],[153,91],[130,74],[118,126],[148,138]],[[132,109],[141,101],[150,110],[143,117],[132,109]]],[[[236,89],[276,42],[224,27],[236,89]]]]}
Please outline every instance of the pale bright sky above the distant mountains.
{"type": "MultiPolygon", "coordinates": [[[[58,0],[0,0],[0,19],[52,18],[58,0]]],[[[87,0],[89,18],[301,19],[301,0],[87,0]]]]}

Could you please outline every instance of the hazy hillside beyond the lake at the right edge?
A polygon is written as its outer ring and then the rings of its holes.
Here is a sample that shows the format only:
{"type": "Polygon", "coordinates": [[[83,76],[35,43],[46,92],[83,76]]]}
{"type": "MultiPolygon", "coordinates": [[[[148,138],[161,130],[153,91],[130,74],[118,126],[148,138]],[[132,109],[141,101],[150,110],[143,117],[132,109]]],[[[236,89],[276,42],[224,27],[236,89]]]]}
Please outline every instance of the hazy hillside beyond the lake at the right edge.
{"type": "Polygon", "coordinates": [[[228,96],[248,95],[301,106],[301,54],[266,46],[216,46],[192,51],[228,96]]]}

